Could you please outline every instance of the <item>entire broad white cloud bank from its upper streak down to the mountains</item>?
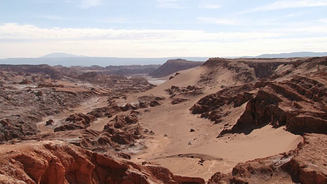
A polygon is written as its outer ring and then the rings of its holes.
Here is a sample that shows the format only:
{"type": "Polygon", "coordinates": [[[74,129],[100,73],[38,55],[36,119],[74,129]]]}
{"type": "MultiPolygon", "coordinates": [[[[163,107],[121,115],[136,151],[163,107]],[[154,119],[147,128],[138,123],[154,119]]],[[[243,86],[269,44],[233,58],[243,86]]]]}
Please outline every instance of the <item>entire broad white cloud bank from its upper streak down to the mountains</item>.
{"type": "MultiPolygon", "coordinates": [[[[315,31],[294,27],[294,30],[315,31]]],[[[321,27],[320,27],[321,28],[321,27]]],[[[309,29],[309,28],[308,28],[309,29]]],[[[321,28],[327,32],[327,28],[321,28]]],[[[295,51],[325,52],[327,37],[271,32],[208,33],[201,30],[52,28],[0,24],[0,58],[39,57],[52,52],[99,57],[244,56],[295,51]]],[[[323,32],[321,32],[323,33],[323,32]]]]}

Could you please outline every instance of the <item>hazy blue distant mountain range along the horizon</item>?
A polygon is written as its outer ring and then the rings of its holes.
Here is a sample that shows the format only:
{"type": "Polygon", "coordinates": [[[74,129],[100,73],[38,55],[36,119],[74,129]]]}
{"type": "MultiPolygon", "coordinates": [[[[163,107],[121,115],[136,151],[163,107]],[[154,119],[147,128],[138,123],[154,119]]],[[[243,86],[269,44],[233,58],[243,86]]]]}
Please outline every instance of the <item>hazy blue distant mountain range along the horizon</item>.
{"type": "MultiPolygon", "coordinates": [[[[283,54],[263,54],[260,56],[221,57],[221,58],[289,58],[289,57],[321,57],[327,52],[294,52],[283,54]]],[[[0,64],[49,64],[51,66],[108,66],[133,64],[163,64],[170,59],[185,59],[189,61],[206,61],[211,57],[166,57],[166,58],[116,58],[116,57],[87,57],[66,53],[52,53],[39,58],[7,58],[0,59],[0,64]]]]}

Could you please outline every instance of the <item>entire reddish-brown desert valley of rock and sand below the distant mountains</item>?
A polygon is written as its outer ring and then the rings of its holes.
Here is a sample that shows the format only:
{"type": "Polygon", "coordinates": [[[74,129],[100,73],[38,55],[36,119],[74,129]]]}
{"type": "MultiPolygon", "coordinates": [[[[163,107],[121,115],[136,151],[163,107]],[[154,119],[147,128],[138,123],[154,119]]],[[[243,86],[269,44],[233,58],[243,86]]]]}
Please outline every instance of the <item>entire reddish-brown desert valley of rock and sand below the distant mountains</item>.
{"type": "Polygon", "coordinates": [[[0,76],[1,183],[327,183],[327,57],[0,76]]]}

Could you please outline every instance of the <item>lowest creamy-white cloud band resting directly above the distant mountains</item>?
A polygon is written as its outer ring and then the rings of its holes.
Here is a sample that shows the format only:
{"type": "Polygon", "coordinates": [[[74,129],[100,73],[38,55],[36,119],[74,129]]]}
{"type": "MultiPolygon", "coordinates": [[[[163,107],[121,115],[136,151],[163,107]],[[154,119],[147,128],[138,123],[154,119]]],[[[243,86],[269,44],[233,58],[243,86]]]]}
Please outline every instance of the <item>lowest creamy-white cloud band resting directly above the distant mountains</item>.
{"type": "Polygon", "coordinates": [[[53,52],[98,57],[256,56],[298,51],[325,52],[327,37],[264,38],[253,40],[138,42],[132,40],[71,40],[23,43],[0,42],[0,58],[39,57],[53,52]]]}

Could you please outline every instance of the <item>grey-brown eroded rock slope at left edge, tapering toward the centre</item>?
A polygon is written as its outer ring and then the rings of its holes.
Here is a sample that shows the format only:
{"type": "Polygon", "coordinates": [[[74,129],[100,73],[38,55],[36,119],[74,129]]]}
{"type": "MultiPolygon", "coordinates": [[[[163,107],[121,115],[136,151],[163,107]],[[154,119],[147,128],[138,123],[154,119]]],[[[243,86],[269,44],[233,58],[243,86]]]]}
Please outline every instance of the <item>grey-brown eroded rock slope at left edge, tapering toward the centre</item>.
{"type": "Polygon", "coordinates": [[[28,90],[1,90],[0,121],[8,126],[0,126],[0,142],[39,133],[38,122],[43,117],[58,114],[74,108],[92,97],[108,95],[108,90],[85,88],[38,88],[28,90]]]}

